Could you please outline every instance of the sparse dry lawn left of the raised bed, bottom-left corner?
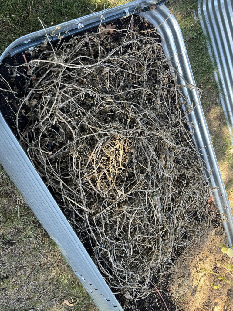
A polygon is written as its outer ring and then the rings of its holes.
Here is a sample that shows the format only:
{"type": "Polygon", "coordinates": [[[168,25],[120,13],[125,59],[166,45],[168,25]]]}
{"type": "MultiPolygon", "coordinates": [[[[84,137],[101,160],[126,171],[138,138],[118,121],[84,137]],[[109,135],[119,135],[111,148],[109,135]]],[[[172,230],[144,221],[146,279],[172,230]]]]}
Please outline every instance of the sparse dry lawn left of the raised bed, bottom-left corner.
{"type": "Polygon", "coordinates": [[[0,171],[0,310],[94,310],[91,299],[26,206],[11,180],[0,171]],[[70,300],[68,298],[68,300],[70,300]]]}

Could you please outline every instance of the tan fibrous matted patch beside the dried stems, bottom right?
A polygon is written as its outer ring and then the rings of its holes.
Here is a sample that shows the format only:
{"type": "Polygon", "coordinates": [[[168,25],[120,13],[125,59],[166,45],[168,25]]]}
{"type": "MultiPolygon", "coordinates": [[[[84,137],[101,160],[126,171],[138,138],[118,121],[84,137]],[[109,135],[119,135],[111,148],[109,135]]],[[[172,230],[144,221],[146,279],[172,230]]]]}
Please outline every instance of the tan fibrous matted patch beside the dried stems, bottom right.
{"type": "Polygon", "coordinates": [[[233,310],[232,285],[218,279],[217,274],[233,281],[233,274],[221,264],[233,259],[221,252],[218,244],[227,244],[225,231],[217,227],[199,242],[190,245],[176,262],[171,276],[171,297],[181,309],[194,311],[233,310]],[[210,273],[205,270],[208,270],[210,273]],[[214,286],[220,285],[215,289],[214,286]]]}

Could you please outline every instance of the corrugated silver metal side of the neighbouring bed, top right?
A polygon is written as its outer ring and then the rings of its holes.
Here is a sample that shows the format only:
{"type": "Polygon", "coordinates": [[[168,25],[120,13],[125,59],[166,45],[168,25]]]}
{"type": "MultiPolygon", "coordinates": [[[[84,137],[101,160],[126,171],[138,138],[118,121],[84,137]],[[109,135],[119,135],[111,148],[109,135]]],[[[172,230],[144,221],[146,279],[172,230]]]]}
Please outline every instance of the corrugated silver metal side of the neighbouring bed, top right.
{"type": "Polygon", "coordinates": [[[199,0],[198,15],[216,65],[215,79],[233,145],[233,0],[199,0]]]}

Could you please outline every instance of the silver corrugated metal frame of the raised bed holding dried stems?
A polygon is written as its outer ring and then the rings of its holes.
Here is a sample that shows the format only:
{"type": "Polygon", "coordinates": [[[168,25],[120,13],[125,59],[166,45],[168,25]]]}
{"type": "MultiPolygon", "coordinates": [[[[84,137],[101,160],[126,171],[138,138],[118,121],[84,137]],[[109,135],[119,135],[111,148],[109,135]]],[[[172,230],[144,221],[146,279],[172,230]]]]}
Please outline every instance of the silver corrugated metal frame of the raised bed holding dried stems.
{"type": "MultiPolygon", "coordinates": [[[[99,23],[101,19],[105,22],[111,21],[116,17],[126,16],[129,12],[134,12],[135,8],[138,6],[144,7],[153,3],[152,1],[141,3],[139,0],[130,2],[120,7],[62,23],[59,25],[59,31],[61,33],[77,29],[80,23],[82,23],[84,27],[87,27],[90,23],[99,23]]],[[[193,138],[203,160],[203,171],[208,178],[209,184],[214,189],[212,192],[213,200],[221,216],[225,220],[223,222],[223,227],[226,230],[229,244],[232,245],[233,219],[231,208],[199,101],[199,95],[194,87],[194,77],[180,27],[175,17],[170,15],[168,8],[165,6],[159,7],[154,11],[141,13],[141,15],[154,26],[158,26],[158,32],[162,36],[164,53],[167,58],[170,59],[172,67],[177,69],[178,84],[184,85],[181,91],[185,101],[187,101],[185,105],[189,105],[189,109],[190,107],[195,107],[187,116],[187,119],[189,123],[192,123],[193,138]],[[189,87],[185,87],[185,85],[189,85],[189,87]]],[[[55,29],[56,26],[48,28],[46,30],[47,34],[49,35],[53,31],[55,31],[55,33],[58,32],[58,30],[55,29]]],[[[0,63],[13,48],[23,44],[25,41],[29,42],[29,40],[39,39],[43,36],[44,30],[40,30],[15,40],[3,52],[0,57],[0,63]]],[[[39,177],[39,174],[23,151],[1,113],[0,162],[16,184],[16,187],[22,193],[26,203],[30,206],[35,216],[58,245],[63,256],[66,258],[70,267],[75,272],[98,309],[101,311],[122,310],[119,302],[94,265],[94,262],[71,228],[71,225],[66,220],[51,193],[48,191],[48,188],[39,177]]]]}

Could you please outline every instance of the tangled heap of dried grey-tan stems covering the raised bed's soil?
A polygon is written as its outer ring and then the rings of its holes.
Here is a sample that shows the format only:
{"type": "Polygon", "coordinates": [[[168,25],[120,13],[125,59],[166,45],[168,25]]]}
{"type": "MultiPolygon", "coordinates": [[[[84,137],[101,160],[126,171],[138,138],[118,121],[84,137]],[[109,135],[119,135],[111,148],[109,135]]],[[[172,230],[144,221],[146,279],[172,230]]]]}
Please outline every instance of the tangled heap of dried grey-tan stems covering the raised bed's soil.
{"type": "Polygon", "coordinates": [[[158,34],[121,34],[43,46],[19,134],[108,284],[139,299],[205,230],[209,189],[158,34]]]}

